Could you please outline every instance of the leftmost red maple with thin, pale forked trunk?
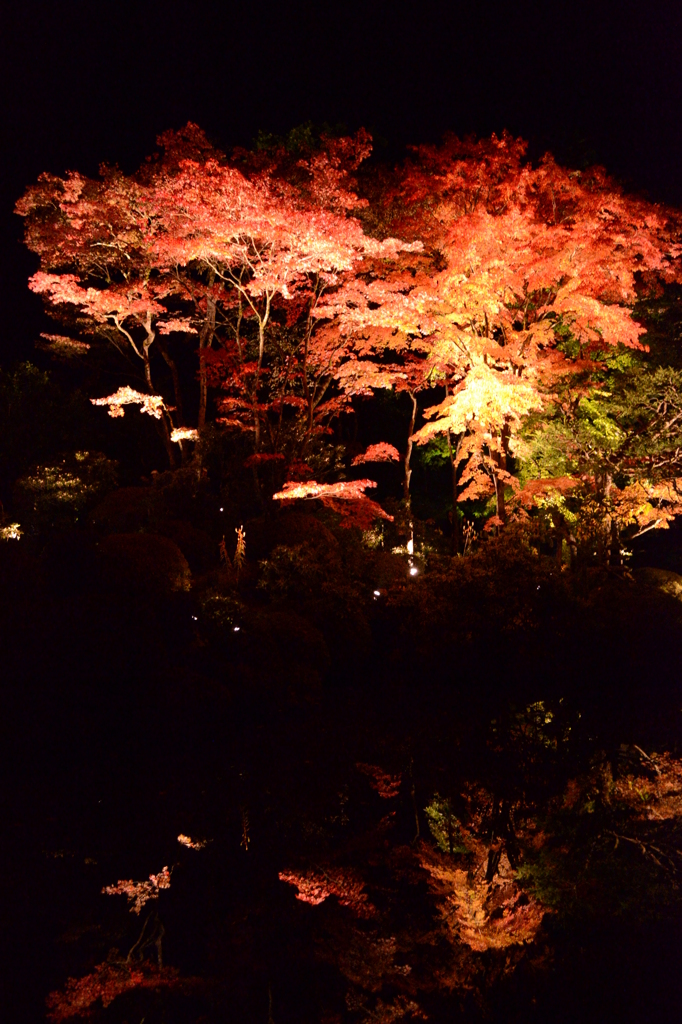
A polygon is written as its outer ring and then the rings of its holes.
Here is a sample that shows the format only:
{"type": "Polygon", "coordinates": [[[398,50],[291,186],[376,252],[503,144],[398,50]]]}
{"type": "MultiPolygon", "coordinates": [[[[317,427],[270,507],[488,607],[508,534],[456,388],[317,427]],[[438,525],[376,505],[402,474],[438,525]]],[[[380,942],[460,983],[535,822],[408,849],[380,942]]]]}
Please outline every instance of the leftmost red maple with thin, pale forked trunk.
{"type": "MultiPolygon", "coordinates": [[[[31,289],[70,325],[75,322],[81,330],[86,325],[92,336],[138,359],[151,394],[157,393],[152,356],[160,349],[181,418],[179,374],[161,326],[166,321],[168,330],[180,328],[164,304],[176,286],[159,272],[152,251],[150,190],[115,169],[103,169],[96,181],[77,173],[63,179],[43,174],[16,204],[16,212],[26,220],[27,245],[41,262],[31,289]]],[[[159,422],[172,464],[169,409],[159,422]]]]}

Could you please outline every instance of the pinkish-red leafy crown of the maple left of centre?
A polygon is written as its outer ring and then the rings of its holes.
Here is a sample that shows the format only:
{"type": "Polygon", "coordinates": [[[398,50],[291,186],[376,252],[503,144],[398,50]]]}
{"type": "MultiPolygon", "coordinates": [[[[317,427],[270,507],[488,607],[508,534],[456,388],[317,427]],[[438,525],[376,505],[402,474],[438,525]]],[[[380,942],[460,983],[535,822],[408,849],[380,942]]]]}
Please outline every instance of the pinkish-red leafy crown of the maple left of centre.
{"type": "Polygon", "coordinates": [[[161,172],[151,182],[163,226],[155,236],[157,262],[186,266],[197,260],[245,295],[290,299],[308,275],[349,270],[365,253],[399,251],[396,240],[367,238],[358,221],[346,216],[357,199],[342,185],[341,161],[338,154],[311,158],[311,181],[296,188],[276,176],[276,159],[251,177],[219,154],[181,160],[173,173],[161,172]]]}

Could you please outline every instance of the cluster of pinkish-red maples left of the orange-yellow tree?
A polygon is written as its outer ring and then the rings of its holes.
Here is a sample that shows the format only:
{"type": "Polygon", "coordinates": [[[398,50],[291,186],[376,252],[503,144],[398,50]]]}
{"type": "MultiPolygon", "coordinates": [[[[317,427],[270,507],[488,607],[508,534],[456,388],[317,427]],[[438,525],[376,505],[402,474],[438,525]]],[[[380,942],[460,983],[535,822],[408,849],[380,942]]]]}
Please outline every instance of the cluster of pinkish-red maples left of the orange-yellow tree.
{"type": "Polygon", "coordinates": [[[348,187],[349,172],[370,152],[369,135],[326,139],[323,151],[296,162],[295,183],[281,154],[228,161],[194,125],[159,143],[161,159],[136,175],[42,175],[28,189],[16,210],[41,258],[31,288],[57,312],[78,310],[129,346],[151,393],[152,353],[160,350],[180,421],[171,421],[167,404],[167,442],[184,425],[182,385],[165,340],[178,333],[198,344],[199,431],[213,382],[225,392],[221,422],[252,431],[256,452],[264,427],[276,449],[272,431],[281,433],[287,408],[305,414],[310,436],[332,380],[319,349],[310,358],[311,312],[325,289],[368,256],[403,248],[368,237],[351,215],[363,204],[348,187]],[[274,324],[276,308],[285,324],[274,324]]]}

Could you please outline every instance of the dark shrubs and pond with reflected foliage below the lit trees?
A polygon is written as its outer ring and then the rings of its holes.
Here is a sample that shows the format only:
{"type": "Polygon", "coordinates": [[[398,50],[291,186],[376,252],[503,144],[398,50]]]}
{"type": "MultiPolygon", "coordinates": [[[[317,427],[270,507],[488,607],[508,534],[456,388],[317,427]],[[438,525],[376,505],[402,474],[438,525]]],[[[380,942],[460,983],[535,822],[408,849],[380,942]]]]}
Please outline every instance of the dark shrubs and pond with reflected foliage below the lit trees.
{"type": "Polygon", "coordinates": [[[236,569],[222,500],[159,474],[0,546],[14,1019],[669,1019],[679,578],[422,525],[411,577],[314,508],[236,569]]]}

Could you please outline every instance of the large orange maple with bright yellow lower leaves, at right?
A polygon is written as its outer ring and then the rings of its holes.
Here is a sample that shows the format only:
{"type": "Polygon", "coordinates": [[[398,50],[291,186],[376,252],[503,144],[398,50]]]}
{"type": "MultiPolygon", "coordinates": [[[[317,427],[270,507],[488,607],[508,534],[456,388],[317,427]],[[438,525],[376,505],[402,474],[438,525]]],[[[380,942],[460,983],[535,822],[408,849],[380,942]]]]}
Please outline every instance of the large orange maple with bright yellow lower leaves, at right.
{"type": "MultiPolygon", "coordinates": [[[[682,253],[674,211],[627,196],[599,168],[570,172],[549,156],[532,168],[524,156],[525,143],[508,135],[415,150],[375,193],[369,218],[380,237],[419,240],[424,253],[409,273],[403,255],[394,280],[369,286],[365,302],[365,286],[355,287],[350,311],[341,301],[327,307],[340,330],[358,339],[365,331],[368,349],[356,356],[370,356],[364,378],[355,366],[339,377],[366,386],[373,377],[381,386],[377,353],[385,359],[395,332],[404,332],[403,351],[422,361],[421,387],[446,390],[413,439],[456,439],[460,500],[494,493],[499,524],[513,461],[525,454],[521,424],[545,408],[557,381],[589,374],[599,350],[642,349],[637,283],[679,280],[682,253]],[[394,333],[382,344],[384,324],[394,333]],[[568,337],[578,348],[570,358],[568,337]]],[[[387,368],[384,375],[393,386],[387,368]]]]}

